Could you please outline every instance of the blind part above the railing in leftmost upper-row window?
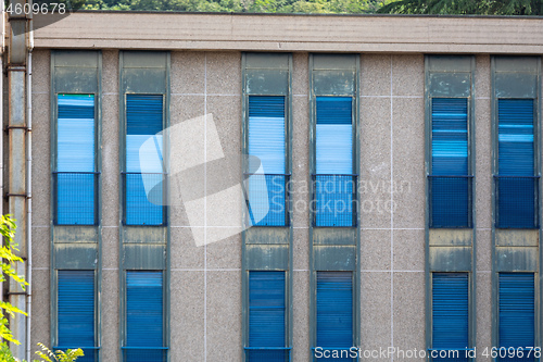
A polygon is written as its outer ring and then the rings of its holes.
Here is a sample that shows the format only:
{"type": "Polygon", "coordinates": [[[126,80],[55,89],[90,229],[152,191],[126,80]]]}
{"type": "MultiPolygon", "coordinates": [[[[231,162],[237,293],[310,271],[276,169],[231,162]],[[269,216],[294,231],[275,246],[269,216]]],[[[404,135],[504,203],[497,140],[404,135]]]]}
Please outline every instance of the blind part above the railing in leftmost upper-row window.
{"type": "Polygon", "coordinates": [[[94,95],[58,96],[56,171],[94,171],[94,95]]]}

